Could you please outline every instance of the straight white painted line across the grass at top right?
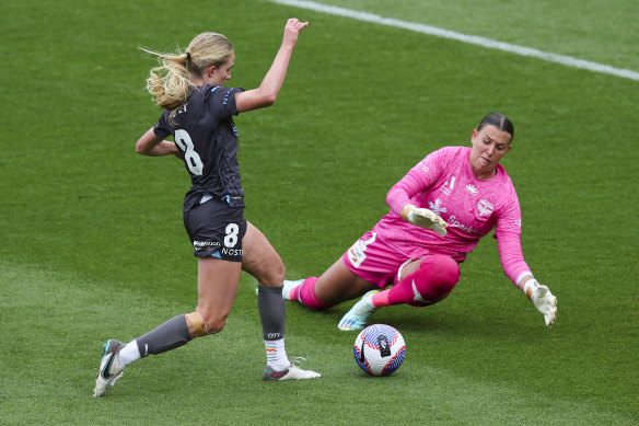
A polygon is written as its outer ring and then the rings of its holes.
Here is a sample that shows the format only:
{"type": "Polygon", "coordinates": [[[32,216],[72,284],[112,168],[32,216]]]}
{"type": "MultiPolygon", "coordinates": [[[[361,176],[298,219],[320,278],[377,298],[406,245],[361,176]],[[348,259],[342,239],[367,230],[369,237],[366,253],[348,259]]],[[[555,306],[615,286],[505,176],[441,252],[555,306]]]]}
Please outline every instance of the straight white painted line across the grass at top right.
{"type": "Polygon", "coordinates": [[[314,10],[316,12],[323,12],[323,13],[334,14],[334,15],[338,15],[338,16],[351,18],[353,20],[372,22],[375,24],[388,25],[388,26],[395,26],[398,28],[410,30],[410,31],[415,31],[417,33],[434,35],[437,37],[450,38],[450,39],[454,39],[454,41],[462,42],[462,43],[469,43],[469,44],[474,44],[477,46],[487,47],[490,49],[503,50],[503,51],[508,51],[508,53],[521,55],[521,56],[531,56],[533,58],[542,59],[542,60],[545,60],[548,62],[561,64],[561,65],[565,65],[567,67],[581,68],[581,69],[585,69],[585,70],[593,71],[593,72],[602,72],[605,74],[623,77],[625,79],[639,81],[639,72],[632,71],[629,69],[614,68],[614,67],[611,67],[608,65],[591,62],[589,60],[578,59],[578,58],[573,58],[571,56],[553,54],[553,53],[548,53],[548,51],[542,51],[542,50],[534,49],[532,47],[518,46],[518,45],[513,45],[510,43],[497,42],[497,41],[493,41],[490,38],[478,37],[475,35],[461,34],[461,33],[456,33],[454,31],[438,28],[437,26],[418,24],[415,22],[400,21],[400,20],[396,20],[394,18],[384,18],[384,16],[380,16],[380,15],[374,14],[374,13],[344,9],[344,8],[339,8],[336,5],[327,5],[327,4],[316,3],[314,1],[303,1],[303,0],[268,0],[268,1],[270,1],[271,3],[292,5],[292,7],[301,8],[301,9],[314,10]]]}

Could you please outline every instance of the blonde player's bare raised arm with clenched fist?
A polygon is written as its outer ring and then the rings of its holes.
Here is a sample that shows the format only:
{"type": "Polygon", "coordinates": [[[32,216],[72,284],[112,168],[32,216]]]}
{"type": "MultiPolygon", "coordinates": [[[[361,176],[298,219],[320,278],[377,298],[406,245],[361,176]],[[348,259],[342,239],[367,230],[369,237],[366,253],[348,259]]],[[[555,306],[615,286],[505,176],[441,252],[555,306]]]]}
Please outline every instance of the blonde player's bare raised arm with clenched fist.
{"type": "Polygon", "coordinates": [[[298,37],[307,25],[307,22],[301,22],[297,18],[291,18],[287,21],[282,44],[259,88],[240,92],[235,95],[235,105],[239,112],[264,108],[275,103],[287,77],[287,70],[293,48],[298,43],[298,37]]]}

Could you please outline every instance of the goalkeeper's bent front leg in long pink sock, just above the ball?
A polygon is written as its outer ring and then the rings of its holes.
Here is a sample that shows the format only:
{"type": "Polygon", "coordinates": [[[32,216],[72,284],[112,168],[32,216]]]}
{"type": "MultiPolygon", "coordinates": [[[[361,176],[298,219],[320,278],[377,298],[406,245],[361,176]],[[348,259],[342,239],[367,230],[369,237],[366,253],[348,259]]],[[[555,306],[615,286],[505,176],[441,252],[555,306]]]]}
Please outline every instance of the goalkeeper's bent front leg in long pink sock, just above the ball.
{"type": "Polygon", "coordinates": [[[435,254],[421,261],[419,268],[396,286],[375,293],[375,308],[407,303],[426,307],[445,299],[460,280],[460,267],[450,256],[435,254]]]}

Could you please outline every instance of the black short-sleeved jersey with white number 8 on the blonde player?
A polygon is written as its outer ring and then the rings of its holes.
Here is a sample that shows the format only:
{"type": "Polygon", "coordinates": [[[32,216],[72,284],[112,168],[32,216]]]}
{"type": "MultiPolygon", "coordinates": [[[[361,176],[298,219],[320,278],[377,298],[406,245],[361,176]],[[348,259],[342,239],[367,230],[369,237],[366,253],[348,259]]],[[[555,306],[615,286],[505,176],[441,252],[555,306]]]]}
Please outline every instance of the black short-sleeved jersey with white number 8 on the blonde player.
{"type": "Polygon", "coordinates": [[[237,88],[202,85],[191,90],[186,103],[172,119],[165,111],[153,128],[160,138],[173,135],[190,175],[191,187],[184,198],[189,210],[204,195],[225,200],[231,207],[244,207],[244,189],[237,163],[237,88]]]}

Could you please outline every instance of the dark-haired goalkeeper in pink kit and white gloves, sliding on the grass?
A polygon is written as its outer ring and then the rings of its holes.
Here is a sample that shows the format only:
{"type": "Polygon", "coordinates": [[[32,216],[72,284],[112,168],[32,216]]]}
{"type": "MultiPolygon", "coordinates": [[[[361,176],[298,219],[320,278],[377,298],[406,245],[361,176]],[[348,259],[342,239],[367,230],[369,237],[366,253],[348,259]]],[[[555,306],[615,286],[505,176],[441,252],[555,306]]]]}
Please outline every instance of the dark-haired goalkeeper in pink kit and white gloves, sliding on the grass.
{"type": "Polygon", "coordinates": [[[513,135],[510,119],[491,113],[473,130],[470,147],[427,156],[391,188],[391,211],[371,231],[321,277],[284,280],[283,297],[326,309],[363,295],[338,324],[360,330],[379,308],[443,300],[460,279],[458,264],[495,229],[506,275],[551,326],[557,298],[524,261],[519,200],[499,164],[513,135]]]}

